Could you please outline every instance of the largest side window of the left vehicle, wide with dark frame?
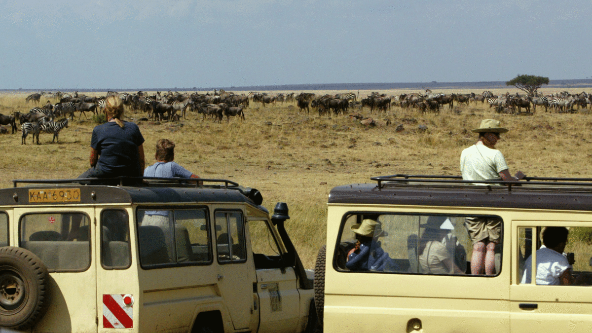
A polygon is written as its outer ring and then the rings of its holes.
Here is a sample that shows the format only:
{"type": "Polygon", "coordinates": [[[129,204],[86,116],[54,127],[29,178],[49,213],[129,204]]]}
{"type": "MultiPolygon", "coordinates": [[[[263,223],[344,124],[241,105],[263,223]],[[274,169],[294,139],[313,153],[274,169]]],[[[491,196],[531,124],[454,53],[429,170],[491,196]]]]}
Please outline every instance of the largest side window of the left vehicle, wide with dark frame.
{"type": "Polygon", "coordinates": [[[137,211],[140,263],[208,264],[211,262],[206,209],[137,211]]]}

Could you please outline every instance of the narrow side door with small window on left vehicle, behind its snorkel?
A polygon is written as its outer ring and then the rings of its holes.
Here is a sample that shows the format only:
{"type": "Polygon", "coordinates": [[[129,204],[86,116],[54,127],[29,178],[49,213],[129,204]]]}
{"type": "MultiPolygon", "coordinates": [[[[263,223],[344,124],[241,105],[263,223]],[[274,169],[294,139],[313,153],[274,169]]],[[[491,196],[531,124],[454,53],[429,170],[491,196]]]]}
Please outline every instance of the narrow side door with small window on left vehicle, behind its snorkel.
{"type": "Polygon", "coordinates": [[[247,261],[244,224],[242,210],[214,210],[218,287],[234,329],[256,325],[256,315],[253,315],[255,267],[252,261],[247,261]]]}

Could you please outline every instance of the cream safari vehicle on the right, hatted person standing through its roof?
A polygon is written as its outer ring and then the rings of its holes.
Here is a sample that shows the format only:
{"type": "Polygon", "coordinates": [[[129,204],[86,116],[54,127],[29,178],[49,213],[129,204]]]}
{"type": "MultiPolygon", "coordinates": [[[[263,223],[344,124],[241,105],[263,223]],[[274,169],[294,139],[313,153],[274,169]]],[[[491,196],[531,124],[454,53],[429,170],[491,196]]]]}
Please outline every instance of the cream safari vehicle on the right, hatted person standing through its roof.
{"type": "MultiPolygon", "coordinates": [[[[481,185],[437,175],[371,180],[329,194],[327,243],[314,281],[325,333],[592,331],[592,179],[481,185]],[[501,222],[494,274],[471,272],[472,242],[464,226],[471,217],[501,222]],[[380,223],[370,248],[387,253],[387,264],[350,269],[353,230],[364,220],[380,223]],[[446,230],[429,238],[434,225],[446,230]],[[581,277],[580,285],[521,283],[525,262],[536,256],[540,233],[549,226],[569,228],[565,252],[575,257],[571,274],[581,277]],[[429,244],[435,242],[461,271],[432,270],[427,258],[433,258],[429,244]]],[[[536,268],[529,271],[527,280],[536,281],[536,268]]]]}

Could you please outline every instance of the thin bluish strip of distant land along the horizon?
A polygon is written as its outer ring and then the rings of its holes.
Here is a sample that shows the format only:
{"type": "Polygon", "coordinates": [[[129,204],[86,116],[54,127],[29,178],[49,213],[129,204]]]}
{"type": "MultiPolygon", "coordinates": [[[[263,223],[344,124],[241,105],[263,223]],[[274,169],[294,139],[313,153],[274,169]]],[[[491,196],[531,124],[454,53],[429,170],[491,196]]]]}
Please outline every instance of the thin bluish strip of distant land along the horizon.
{"type": "MultiPolygon", "coordinates": [[[[0,89],[0,91],[29,92],[29,91],[213,91],[237,90],[237,91],[274,91],[274,90],[371,90],[371,89],[444,89],[444,88],[475,88],[475,89],[500,89],[510,87],[506,81],[477,81],[477,82],[389,82],[389,83],[336,83],[336,84],[284,84],[284,85],[249,85],[230,87],[181,87],[181,88],[18,88],[0,89]]],[[[592,87],[590,79],[559,79],[549,80],[549,88],[589,88],[592,87]]]]}

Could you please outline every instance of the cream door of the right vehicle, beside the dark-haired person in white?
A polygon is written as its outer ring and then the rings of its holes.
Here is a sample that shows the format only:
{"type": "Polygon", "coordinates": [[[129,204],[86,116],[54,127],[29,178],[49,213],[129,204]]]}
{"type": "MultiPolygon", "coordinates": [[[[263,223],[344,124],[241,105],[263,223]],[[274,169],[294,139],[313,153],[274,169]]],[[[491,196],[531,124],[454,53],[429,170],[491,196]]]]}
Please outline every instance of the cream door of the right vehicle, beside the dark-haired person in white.
{"type": "MultiPolygon", "coordinates": [[[[552,219],[549,219],[552,220],[552,219]]],[[[510,286],[511,332],[590,331],[592,327],[592,270],[590,245],[586,235],[592,233],[590,222],[512,221],[513,274],[510,286]],[[564,252],[574,252],[574,276],[581,274],[583,285],[561,286],[536,283],[536,265],[530,265],[529,283],[521,283],[525,262],[537,262],[540,234],[547,226],[569,228],[564,252]]],[[[589,238],[588,238],[589,239],[589,238]]],[[[541,258],[541,260],[543,260],[541,258]]],[[[525,280],[526,282],[527,280],[525,280]]],[[[539,281],[540,283],[540,281],[539,281]]]]}

